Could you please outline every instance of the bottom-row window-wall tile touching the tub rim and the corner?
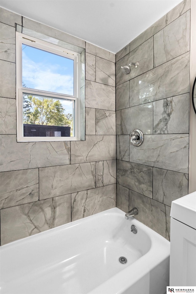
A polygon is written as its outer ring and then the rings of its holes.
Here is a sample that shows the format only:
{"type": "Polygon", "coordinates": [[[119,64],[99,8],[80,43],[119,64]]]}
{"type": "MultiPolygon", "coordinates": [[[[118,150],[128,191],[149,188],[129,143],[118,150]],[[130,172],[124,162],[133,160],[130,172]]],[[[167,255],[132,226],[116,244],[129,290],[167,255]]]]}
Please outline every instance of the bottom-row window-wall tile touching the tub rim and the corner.
{"type": "Polygon", "coordinates": [[[72,221],[116,206],[116,184],[71,194],[72,221]]]}

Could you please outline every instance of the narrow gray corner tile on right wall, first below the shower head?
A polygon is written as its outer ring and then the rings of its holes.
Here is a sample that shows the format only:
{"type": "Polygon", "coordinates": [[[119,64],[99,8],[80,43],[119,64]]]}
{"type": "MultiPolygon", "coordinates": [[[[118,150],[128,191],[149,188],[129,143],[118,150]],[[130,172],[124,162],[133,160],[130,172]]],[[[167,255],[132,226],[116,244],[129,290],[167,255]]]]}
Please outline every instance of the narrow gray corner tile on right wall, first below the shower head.
{"type": "Polygon", "coordinates": [[[129,81],[116,87],[116,110],[129,107],[129,81]]]}

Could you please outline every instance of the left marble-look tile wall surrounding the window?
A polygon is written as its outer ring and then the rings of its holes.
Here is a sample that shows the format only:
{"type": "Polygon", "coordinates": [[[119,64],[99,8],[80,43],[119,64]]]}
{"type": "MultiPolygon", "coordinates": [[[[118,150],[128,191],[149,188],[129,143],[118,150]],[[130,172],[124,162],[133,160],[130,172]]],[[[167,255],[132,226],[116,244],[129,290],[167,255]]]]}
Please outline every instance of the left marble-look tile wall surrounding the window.
{"type": "Polygon", "coordinates": [[[116,206],[116,126],[115,54],[0,9],[3,245],[116,206]],[[15,23],[85,48],[85,141],[17,143],[15,23]]]}

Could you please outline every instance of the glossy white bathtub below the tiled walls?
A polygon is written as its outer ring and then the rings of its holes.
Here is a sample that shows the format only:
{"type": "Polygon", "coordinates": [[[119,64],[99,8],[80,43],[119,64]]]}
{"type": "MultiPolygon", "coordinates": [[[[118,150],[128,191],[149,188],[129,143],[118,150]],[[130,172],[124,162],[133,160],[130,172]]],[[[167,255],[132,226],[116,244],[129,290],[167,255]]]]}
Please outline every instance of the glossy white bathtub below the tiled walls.
{"type": "Polygon", "coordinates": [[[124,215],[112,208],[3,245],[0,293],[164,294],[170,243],[124,215]]]}

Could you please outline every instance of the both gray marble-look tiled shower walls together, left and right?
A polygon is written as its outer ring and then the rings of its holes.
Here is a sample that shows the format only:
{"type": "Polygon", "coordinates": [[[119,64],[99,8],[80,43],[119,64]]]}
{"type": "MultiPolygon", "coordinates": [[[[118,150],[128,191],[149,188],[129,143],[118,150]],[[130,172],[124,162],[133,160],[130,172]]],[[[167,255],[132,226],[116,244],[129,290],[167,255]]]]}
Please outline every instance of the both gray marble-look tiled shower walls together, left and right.
{"type": "Polygon", "coordinates": [[[171,201],[188,193],[190,1],[116,54],[117,136],[114,54],[5,9],[0,26],[1,244],[114,207],[116,139],[117,207],[169,239],[171,201]],[[86,141],[17,143],[15,23],[85,48],[86,141]]]}

